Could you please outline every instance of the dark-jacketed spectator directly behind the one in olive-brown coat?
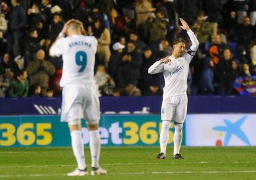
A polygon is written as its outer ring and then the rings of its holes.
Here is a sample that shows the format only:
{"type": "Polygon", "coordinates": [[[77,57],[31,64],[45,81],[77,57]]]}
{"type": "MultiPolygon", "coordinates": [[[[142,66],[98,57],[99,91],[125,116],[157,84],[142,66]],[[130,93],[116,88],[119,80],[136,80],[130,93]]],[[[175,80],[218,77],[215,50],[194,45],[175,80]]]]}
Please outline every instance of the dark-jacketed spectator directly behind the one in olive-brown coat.
{"type": "Polygon", "coordinates": [[[38,32],[32,29],[28,33],[28,37],[23,42],[23,54],[25,59],[25,67],[35,59],[35,54],[38,49],[41,49],[43,41],[38,39],[38,32]]]}

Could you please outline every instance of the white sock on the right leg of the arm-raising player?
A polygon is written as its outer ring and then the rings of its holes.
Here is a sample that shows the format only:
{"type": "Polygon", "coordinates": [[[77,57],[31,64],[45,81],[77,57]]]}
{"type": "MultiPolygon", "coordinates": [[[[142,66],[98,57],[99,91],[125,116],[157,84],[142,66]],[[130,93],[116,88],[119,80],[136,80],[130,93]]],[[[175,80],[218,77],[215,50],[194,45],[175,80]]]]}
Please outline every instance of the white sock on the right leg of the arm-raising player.
{"type": "Polygon", "coordinates": [[[174,124],[174,136],[173,136],[173,155],[176,155],[176,153],[179,153],[179,150],[181,149],[181,142],[182,142],[182,124],[174,124]]]}

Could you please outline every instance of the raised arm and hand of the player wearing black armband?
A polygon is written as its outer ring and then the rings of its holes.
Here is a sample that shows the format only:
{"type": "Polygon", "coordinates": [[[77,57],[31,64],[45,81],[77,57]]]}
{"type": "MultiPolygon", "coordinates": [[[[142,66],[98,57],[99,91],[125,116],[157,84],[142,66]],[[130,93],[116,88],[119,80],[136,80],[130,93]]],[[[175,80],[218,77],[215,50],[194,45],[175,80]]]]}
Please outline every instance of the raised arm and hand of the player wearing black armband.
{"type": "Polygon", "coordinates": [[[192,42],[192,46],[189,47],[189,51],[187,51],[186,54],[186,60],[190,61],[194,57],[195,52],[197,52],[199,42],[193,31],[190,30],[189,25],[187,25],[187,22],[182,18],[179,18],[179,20],[181,20],[181,28],[187,31],[187,35],[189,35],[190,41],[192,42]]]}

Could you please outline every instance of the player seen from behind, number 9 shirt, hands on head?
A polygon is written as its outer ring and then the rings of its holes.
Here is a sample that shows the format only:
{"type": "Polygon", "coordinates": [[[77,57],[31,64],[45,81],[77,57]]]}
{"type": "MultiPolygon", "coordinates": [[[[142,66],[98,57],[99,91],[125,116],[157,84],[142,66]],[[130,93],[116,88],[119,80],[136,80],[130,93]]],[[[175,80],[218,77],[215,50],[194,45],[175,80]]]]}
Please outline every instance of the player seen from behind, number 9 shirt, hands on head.
{"type": "Polygon", "coordinates": [[[87,121],[90,134],[90,152],[92,157],[91,174],[106,174],[99,166],[100,158],[100,103],[93,80],[95,54],[98,41],[94,36],[85,36],[85,30],[79,20],[69,20],[59,37],[49,49],[49,55],[63,59],[61,121],[68,123],[72,149],[77,160],[76,168],[68,176],[88,174],[84,157],[81,132],[81,118],[87,121]],[[64,37],[66,35],[66,37],[64,37]]]}

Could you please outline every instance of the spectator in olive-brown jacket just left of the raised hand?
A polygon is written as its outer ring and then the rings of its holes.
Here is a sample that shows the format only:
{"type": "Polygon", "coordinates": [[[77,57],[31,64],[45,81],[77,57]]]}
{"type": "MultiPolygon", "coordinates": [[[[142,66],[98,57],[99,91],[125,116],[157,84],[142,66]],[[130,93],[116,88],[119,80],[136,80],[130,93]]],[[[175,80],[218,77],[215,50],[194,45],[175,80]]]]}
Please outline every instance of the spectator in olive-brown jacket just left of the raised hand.
{"type": "Polygon", "coordinates": [[[150,25],[150,42],[153,43],[159,39],[165,39],[168,22],[166,12],[159,8],[156,10],[156,18],[150,25]]]}

